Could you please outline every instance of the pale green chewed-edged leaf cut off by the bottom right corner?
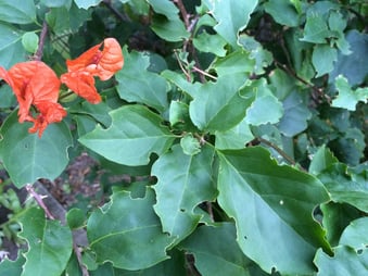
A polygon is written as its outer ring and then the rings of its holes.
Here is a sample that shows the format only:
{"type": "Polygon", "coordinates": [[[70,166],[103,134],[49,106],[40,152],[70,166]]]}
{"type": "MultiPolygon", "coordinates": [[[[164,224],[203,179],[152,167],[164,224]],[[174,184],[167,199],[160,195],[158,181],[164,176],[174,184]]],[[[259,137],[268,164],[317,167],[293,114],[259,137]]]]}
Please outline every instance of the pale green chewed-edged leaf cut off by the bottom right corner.
{"type": "Polygon", "coordinates": [[[361,253],[347,247],[335,248],[331,258],[318,249],[314,260],[318,267],[318,276],[365,275],[368,267],[368,250],[361,253]]]}

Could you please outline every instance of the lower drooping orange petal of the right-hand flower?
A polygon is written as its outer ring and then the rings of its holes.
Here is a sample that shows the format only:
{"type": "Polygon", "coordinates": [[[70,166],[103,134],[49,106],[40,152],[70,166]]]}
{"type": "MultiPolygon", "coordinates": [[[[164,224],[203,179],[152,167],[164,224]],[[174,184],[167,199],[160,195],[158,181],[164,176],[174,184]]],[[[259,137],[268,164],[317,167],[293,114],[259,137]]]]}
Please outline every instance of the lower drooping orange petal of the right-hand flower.
{"type": "Polygon", "coordinates": [[[94,78],[89,73],[83,71],[65,73],[61,76],[61,81],[90,103],[101,102],[101,96],[94,87],[94,78]]]}

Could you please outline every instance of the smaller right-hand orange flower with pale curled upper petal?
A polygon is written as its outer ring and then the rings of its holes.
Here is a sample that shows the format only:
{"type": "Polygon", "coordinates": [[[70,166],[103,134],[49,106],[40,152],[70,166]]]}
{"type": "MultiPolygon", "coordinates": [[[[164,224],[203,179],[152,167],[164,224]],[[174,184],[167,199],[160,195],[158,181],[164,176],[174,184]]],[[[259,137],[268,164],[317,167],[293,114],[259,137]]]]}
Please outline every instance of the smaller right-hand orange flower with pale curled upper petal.
{"type": "Polygon", "coordinates": [[[106,38],[75,60],[67,60],[67,73],[61,76],[61,81],[78,96],[91,103],[101,101],[94,87],[93,76],[101,80],[111,78],[124,65],[122,48],[115,38],[106,38]]]}

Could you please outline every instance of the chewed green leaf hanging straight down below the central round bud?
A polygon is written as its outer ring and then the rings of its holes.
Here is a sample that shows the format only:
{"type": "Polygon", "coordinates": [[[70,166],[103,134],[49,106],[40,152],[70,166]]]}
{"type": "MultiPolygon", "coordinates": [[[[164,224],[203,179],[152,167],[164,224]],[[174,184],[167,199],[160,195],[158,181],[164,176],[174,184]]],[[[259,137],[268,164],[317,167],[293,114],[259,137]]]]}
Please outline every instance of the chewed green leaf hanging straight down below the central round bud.
{"type": "Polygon", "coordinates": [[[194,208],[216,196],[212,180],[214,151],[203,147],[195,155],[187,155],[179,146],[158,158],[152,167],[157,177],[154,211],[160,216],[163,230],[176,237],[176,242],[192,233],[201,216],[194,208]]]}

